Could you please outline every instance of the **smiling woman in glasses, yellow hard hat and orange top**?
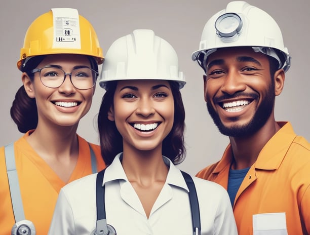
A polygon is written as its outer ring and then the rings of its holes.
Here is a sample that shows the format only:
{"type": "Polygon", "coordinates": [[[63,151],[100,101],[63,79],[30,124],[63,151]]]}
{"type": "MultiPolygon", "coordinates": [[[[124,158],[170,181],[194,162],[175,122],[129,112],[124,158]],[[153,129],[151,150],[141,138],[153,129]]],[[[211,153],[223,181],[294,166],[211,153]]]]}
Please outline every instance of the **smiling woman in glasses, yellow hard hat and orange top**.
{"type": "Polygon", "coordinates": [[[25,135],[0,149],[1,234],[47,234],[60,188],[104,168],[100,147],[76,134],[103,59],[76,9],[51,9],[29,26],[11,107],[25,135]]]}

